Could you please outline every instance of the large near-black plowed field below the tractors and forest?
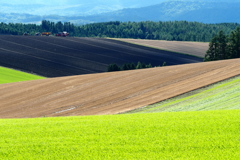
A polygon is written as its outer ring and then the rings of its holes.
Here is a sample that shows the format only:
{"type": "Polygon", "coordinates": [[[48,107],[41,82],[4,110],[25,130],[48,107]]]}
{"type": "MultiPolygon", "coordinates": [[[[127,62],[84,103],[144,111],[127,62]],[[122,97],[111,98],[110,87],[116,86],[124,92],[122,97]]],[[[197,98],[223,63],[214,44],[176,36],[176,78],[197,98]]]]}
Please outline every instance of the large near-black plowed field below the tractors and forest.
{"type": "Polygon", "coordinates": [[[45,77],[106,72],[111,63],[153,66],[202,62],[202,58],[102,38],[0,36],[0,66],[45,77]]]}

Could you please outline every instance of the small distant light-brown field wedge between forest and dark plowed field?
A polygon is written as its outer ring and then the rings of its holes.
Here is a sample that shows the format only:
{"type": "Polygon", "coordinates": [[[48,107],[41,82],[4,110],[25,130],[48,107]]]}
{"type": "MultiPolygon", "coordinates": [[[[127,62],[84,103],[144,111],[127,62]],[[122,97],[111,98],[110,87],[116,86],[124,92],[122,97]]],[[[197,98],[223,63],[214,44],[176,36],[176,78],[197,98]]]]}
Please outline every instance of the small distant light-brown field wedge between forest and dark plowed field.
{"type": "Polygon", "coordinates": [[[182,42],[182,41],[163,41],[163,40],[143,40],[143,39],[124,39],[119,38],[124,42],[150,46],[167,51],[184,53],[198,57],[204,57],[209,48],[209,43],[205,42],[182,42]]]}

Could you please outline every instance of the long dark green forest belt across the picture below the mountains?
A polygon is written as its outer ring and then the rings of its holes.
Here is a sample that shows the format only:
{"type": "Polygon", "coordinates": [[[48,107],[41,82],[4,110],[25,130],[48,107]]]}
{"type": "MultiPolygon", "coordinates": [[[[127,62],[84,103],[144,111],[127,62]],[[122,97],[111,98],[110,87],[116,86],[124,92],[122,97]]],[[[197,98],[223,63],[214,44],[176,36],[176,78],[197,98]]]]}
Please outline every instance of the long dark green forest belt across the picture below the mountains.
{"type": "Polygon", "coordinates": [[[43,20],[40,25],[21,23],[0,23],[0,34],[22,35],[25,32],[62,32],[79,37],[139,38],[176,41],[209,42],[219,31],[230,34],[240,26],[237,23],[204,24],[187,21],[168,22],[105,22],[74,25],[70,22],[50,22],[43,20]]]}

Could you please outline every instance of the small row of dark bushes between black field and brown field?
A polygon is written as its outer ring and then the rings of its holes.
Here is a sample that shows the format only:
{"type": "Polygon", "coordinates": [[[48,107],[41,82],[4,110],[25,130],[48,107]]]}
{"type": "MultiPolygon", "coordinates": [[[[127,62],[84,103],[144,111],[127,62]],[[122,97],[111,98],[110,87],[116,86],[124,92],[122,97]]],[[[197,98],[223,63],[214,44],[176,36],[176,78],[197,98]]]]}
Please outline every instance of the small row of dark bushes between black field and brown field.
{"type": "MultiPolygon", "coordinates": [[[[163,63],[162,66],[166,66],[166,62],[163,63]]],[[[114,72],[114,71],[126,71],[126,70],[134,70],[134,69],[143,69],[143,68],[152,68],[153,66],[151,64],[146,65],[145,63],[138,62],[135,63],[125,63],[122,66],[118,66],[117,64],[110,64],[108,65],[108,72],[114,72]]]]}

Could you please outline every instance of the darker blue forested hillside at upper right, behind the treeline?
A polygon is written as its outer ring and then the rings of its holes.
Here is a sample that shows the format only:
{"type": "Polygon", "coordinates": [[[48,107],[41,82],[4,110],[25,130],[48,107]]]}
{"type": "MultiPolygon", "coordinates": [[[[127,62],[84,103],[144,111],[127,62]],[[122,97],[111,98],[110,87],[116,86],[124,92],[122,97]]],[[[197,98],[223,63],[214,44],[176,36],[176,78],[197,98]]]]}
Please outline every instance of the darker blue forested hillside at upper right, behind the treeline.
{"type": "Polygon", "coordinates": [[[102,21],[174,21],[203,23],[240,22],[240,2],[168,1],[137,9],[123,9],[111,13],[83,17],[102,21]]]}

